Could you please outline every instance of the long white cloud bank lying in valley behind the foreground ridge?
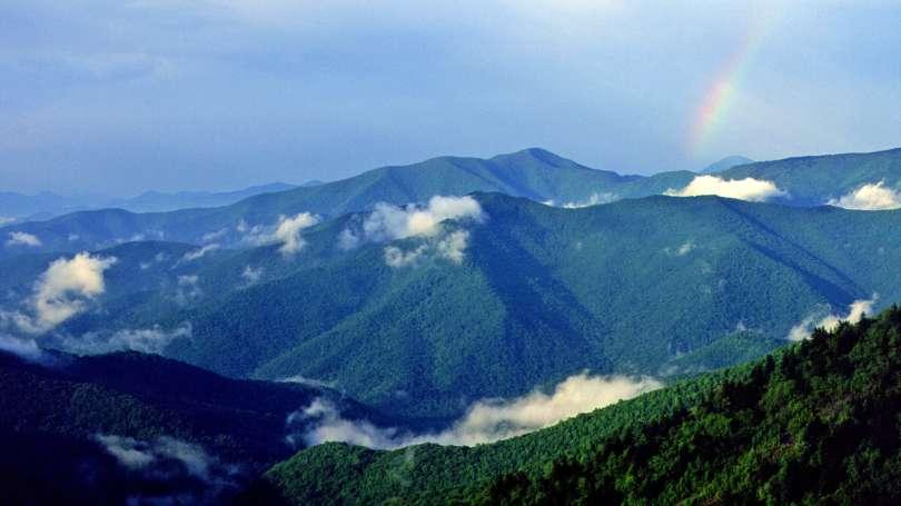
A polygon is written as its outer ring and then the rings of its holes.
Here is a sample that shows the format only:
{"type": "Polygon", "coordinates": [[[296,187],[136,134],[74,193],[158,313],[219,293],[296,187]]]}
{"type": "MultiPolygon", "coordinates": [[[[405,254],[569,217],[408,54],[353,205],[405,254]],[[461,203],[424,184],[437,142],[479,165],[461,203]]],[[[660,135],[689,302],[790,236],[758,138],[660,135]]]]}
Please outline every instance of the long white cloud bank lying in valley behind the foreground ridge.
{"type": "Polygon", "coordinates": [[[474,446],[549,427],[581,413],[662,386],[652,378],[588,376],[583,373],[565,379],[551,393],[535,390],[512,400],[477,401],[448,429],[419,435],[402,433],[393,427],[377,427],[367,420],[346,419],[329,400],[317,398],[307,408],[291,414],[288,426],[304,421],[305,429],[299,437],[310,446],[326,441],[344,441],[370,448],[398,448],[422,443],[474,446]]]}

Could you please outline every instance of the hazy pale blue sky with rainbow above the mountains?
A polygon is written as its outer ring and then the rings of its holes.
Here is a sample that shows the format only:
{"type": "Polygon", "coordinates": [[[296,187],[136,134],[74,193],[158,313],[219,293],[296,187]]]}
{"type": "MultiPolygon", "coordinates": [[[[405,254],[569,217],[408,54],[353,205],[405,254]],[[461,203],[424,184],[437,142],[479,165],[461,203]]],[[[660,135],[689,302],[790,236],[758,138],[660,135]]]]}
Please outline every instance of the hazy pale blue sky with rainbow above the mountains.
{"type": "Polygon", "coordinates": [[[0,191],[901,146],[901,2],[4,0],[0,191]]]}

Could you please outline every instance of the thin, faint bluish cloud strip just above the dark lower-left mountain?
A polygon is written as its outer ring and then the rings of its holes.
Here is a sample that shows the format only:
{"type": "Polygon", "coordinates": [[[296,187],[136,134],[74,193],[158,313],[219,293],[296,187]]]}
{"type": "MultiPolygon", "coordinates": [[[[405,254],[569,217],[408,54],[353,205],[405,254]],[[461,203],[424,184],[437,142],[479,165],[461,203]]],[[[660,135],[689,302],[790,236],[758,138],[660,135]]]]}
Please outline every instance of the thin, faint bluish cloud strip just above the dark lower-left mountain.
{"type": "Polygon", "coordinates": [[[179,337],[190,337],[189,323],[165,330],[160,326],[142,329],[120,329],[115,333],[87,333],[81,337],[67,337],[61,340],[60,347],[67,351],[87,355],[108,354],[112,351],[133,350],[146,354],[161,354],[172,340],[179,337]]]}

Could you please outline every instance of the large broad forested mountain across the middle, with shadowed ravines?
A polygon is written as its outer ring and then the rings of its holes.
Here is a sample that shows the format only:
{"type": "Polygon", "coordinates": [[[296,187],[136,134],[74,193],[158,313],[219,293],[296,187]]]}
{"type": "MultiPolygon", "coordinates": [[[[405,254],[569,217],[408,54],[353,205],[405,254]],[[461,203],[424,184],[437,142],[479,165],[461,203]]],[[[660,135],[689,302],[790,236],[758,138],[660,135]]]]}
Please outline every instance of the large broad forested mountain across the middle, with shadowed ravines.
{"type": "MultiPolygon", "coordinates": [[[[107,292],[43,339],[83,346],[96,333],[159,329],[169,357],[234,377],[300,375],[439,425],[478,399],[582,370],[669,377],[723,367],[852,305],[901,299],[901,211],[719,197],[582,209],[473,198],[481,221],[352,248],[341,247],[346,231],[378,215],[311,226],[290,256],[279,245],[191,261],[182,259],[199,248],[187,245],[99,251],[118,259],[107,292]],[[452,237],[458,257],[443,252],[452,237]]],[[[2,286],[13,294],[7,312],[21,309],[50,258],[2,264],[31,269],[2,286]]]]}

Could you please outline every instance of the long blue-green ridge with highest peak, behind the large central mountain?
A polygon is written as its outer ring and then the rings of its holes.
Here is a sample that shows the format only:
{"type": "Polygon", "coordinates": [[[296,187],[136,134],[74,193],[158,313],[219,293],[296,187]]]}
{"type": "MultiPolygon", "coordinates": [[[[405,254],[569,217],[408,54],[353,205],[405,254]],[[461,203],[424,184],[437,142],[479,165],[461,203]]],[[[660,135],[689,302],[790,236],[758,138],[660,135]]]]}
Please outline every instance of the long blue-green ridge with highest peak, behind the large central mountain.
{"type": "MultiPolygon", "coordinates": [[[[542,149],[487,160],[442,157],[410,166],[383,167],[340,181],[259,195],[215,209],[148,214],[107,209],[17,224],[0,228],[0,237],[28,234],[39,244],[7,244],[0,248],[0,256],[100,249],[141,238],[204,244],[205,238],[215,236],[222,246],[240,246],[246,236],[241,229],[274,227],[280,216],[311,212],[337,217],[369,210],[378,202],[406,205],[424,202],[435,195],[461,196],[473,191],[497,191],[558,205],[588,205],[618,198],[611,190],[620,187],[623,196],[647,195],[640,186],[645,179],[590,169],[542,149]]],[[[672,173],[664,179],[666,182],[657,183],[653,192],[663,192],[676,182],[671,180],[672,173]]],[[[691,172],[680,173],[676,179],[684,185],[691,180],[691,172]]]]}

